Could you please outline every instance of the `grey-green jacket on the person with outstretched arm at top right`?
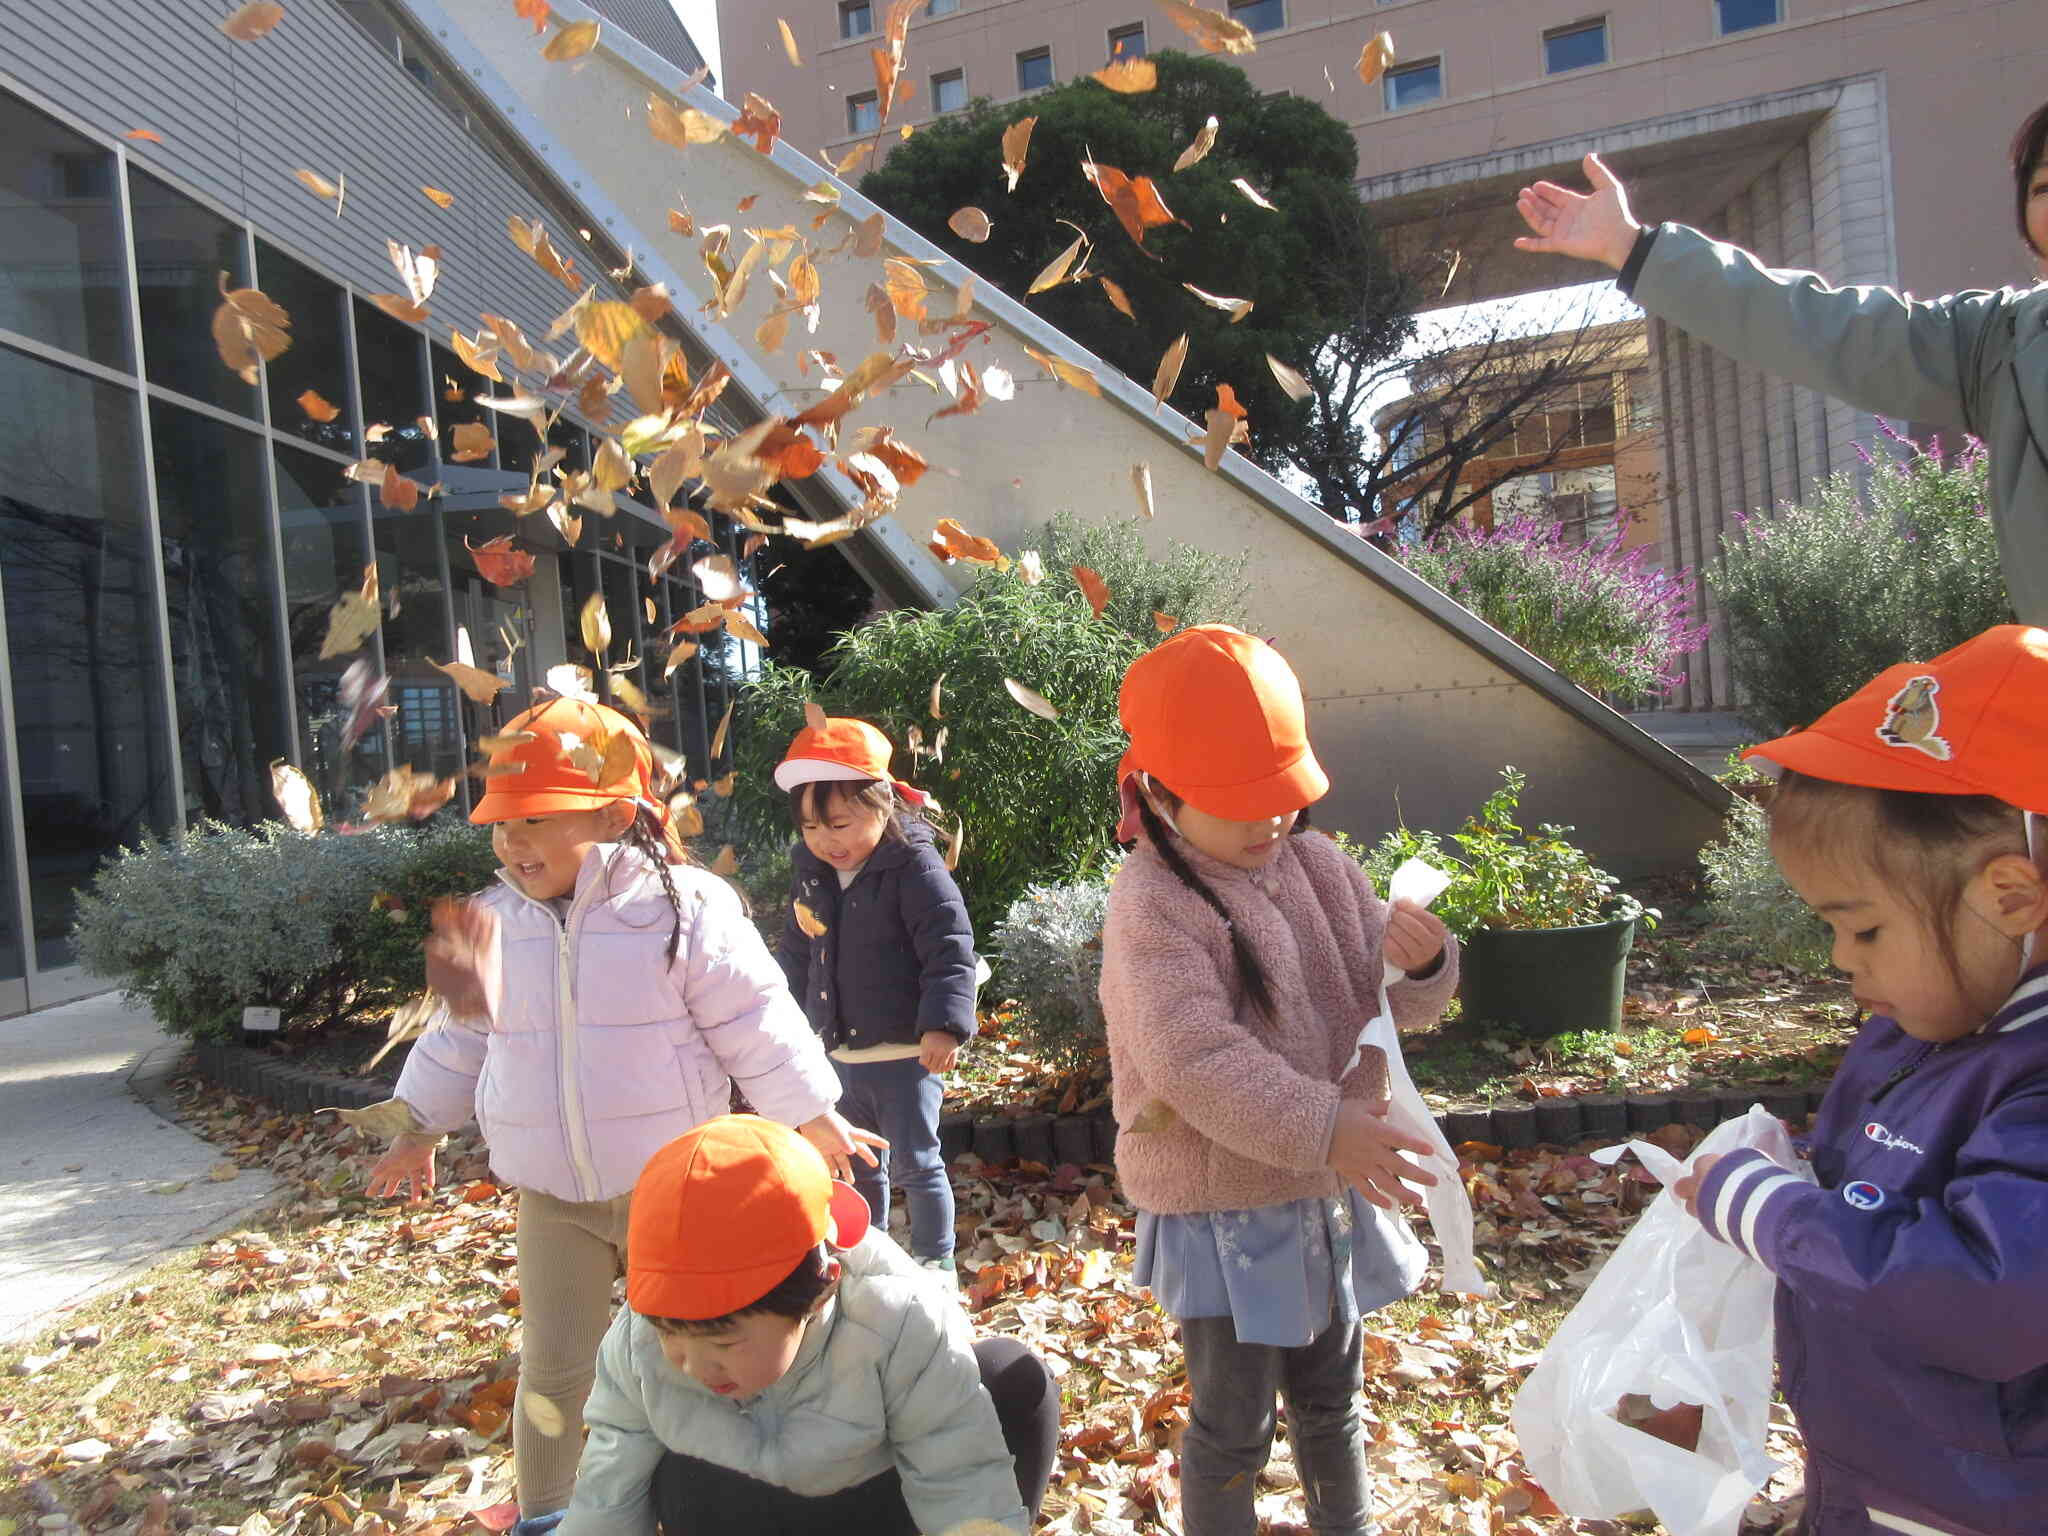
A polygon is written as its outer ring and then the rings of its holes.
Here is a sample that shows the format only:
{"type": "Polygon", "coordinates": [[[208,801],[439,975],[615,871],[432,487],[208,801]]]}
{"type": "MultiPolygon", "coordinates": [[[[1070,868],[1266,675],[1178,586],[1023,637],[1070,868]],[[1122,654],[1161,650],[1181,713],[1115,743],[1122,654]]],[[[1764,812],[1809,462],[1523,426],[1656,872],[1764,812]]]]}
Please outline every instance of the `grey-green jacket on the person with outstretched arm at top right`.
{"type": "Polygon", "coordinates": [[[2048,285],[1907,299],[1831,289],[1665,223],[1622,291],[1739,362],[1991,451],[1991,520],[2023,625],[2048,625],[2048,285]]]}

